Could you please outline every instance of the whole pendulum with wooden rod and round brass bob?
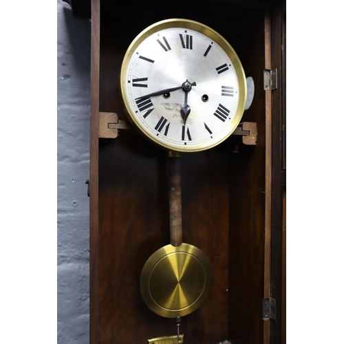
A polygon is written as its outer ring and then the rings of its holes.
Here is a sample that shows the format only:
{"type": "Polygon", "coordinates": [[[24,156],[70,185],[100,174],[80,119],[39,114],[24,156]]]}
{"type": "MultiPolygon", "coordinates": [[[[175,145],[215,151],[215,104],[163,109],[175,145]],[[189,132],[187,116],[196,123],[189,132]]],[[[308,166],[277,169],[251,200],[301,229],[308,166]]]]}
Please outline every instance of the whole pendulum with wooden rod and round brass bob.
{"type": "Polygon", "coordinates": [[[142,298],[167,318],[196,310],[211,287],[211,265],[204,253],[182,242],[180,154],[169,152],[170,244],[155,251],[141,273],[142,298]]]}

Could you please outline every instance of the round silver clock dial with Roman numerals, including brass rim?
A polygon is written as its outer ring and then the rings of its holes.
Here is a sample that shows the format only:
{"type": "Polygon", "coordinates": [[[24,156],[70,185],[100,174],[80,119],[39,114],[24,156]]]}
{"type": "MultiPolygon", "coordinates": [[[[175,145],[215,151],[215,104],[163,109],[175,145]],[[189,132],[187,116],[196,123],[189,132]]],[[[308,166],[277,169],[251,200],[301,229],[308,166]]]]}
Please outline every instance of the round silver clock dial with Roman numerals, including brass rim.
{"type": "Polygon", "coordinates": [[[202,151],[239,124],[246,78],[229,43],[206,25],[169,19],[131,44],[121,69],[129,119],[150,140],[173,151],[202,151]]]}

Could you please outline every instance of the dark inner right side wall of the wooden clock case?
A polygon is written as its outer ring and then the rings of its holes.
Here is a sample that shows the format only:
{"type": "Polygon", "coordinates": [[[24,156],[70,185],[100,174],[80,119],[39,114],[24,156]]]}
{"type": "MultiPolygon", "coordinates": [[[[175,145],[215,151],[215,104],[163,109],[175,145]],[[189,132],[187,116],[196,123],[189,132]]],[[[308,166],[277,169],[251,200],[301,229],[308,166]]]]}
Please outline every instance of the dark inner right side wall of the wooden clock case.
{"type": "MultiPolygon", "coordinates": [[[[244,114],[257,122],[257,146],[239,146],[240,153],[230,154],[229,243],[228,243],[228,341],[264,343],[262,300],[266,277],[266,207],[269,189],[266,182],[266,30],[264,8],[250,17],[248,51],[244,57],[246,75],[255,80],[255,98],[244,114]]],[[[247,35],[246,35],[247,37],[247,35]]],[[[230,153],[230,152],[229,152],[230,153]]]]}

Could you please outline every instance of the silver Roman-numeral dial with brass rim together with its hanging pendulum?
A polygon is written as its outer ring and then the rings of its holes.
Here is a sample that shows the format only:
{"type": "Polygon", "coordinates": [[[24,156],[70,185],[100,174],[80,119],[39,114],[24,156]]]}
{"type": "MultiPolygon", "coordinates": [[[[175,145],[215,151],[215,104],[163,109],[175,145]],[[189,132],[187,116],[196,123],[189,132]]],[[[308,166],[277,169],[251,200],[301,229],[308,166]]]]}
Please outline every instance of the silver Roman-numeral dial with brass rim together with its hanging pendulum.
{"type": "Polygon", "coordinates": [[[211,266],[201,250],[182,242],[176,152],[204,151],[233,133],[246,105],[244,69],[233,47],[213,29],[168,19],[133,40],[120,70],[120,90],[133,125],[170,151],[171,244],[144,265],[141,294],[156,314],[184,316],[206,298],[211,266]]]}

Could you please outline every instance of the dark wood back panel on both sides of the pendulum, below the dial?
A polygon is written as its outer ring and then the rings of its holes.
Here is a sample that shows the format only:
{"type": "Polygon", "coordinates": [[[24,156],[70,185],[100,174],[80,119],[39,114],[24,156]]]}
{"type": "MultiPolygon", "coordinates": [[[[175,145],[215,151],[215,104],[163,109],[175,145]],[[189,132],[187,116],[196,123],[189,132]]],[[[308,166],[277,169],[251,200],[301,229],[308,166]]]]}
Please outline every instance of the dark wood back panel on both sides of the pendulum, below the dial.
{"type": "MultiPolygon", "coordinates": [[[[190,343],[200,338],[216,343],[226,338],[227,322],[226,152],[214,149],[211,155],[180,159],[183,237],[208,256],[213,268],[208,298],[182,319],[180,330],[190,343]]],[[[175,334],[173,319],[153,314],[143,303],[139,286],[145,261],[169,244],[167,152],[141,136],[123,134],[116,147],[100,147],[99,164],[100,343],[145,343],[147,338],[175,334]]]]}

